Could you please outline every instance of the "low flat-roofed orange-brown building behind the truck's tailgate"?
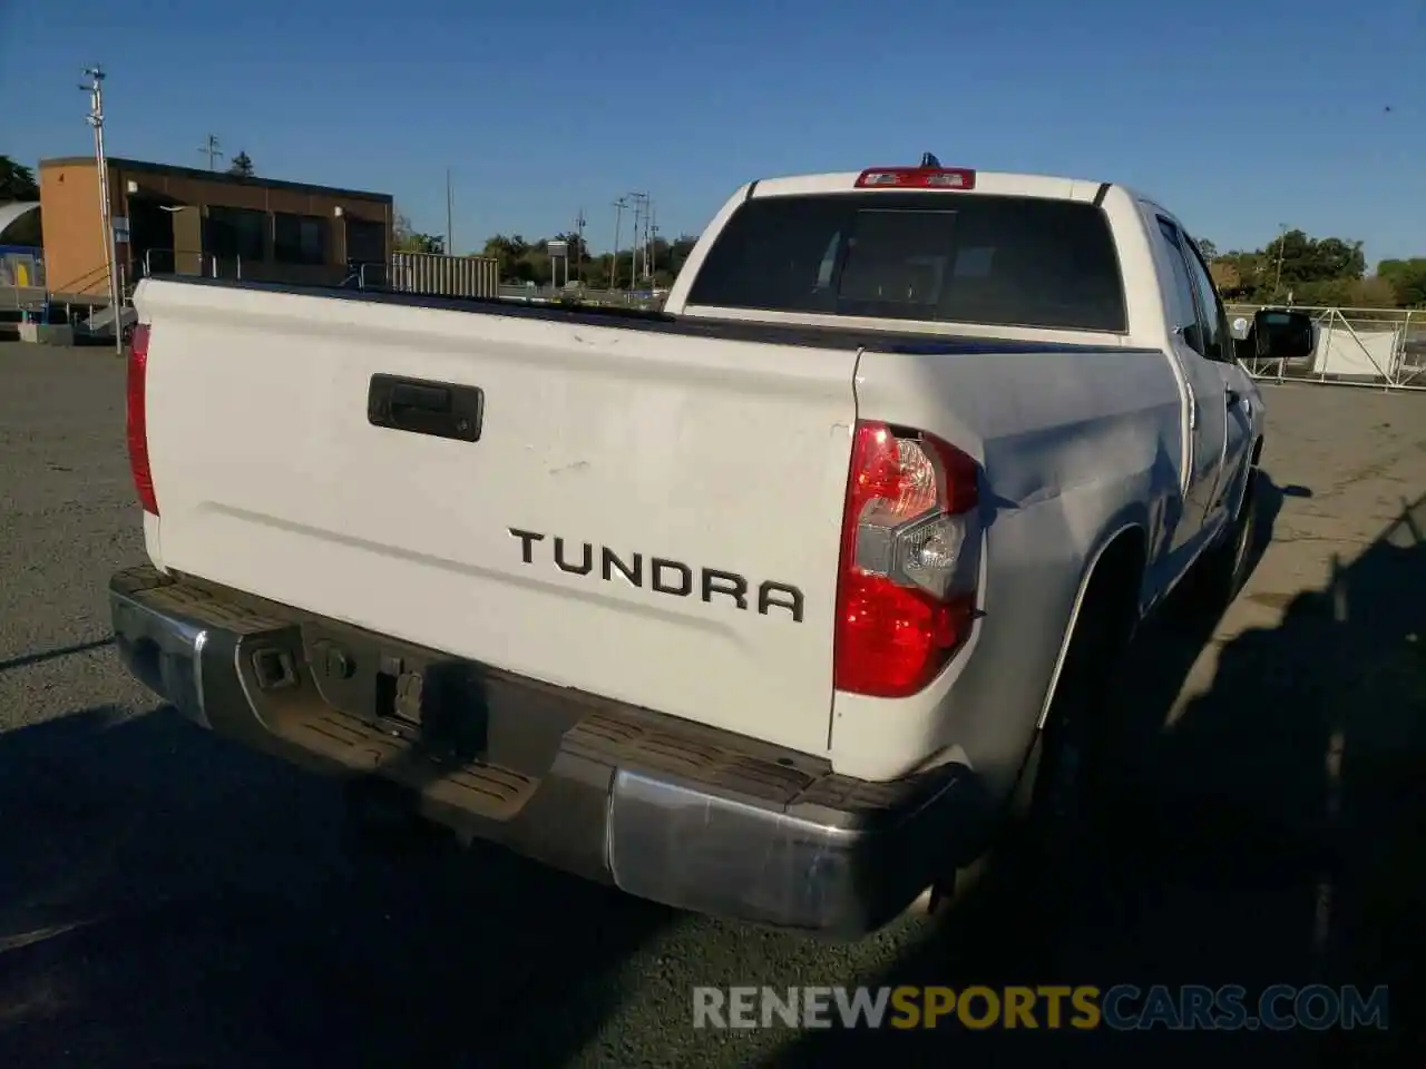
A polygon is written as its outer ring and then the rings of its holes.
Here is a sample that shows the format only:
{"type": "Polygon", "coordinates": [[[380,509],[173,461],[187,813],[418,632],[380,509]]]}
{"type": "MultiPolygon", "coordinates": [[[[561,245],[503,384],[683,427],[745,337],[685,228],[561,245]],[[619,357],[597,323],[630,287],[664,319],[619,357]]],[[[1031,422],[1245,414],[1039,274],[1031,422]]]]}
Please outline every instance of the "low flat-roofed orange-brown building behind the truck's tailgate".
{"type": "MultiPolygon", "coordinates": [[[[93,157],[40,161],[44,275],[57,299],[108,301],[93,157]]],[[[338,285],[389,264],[388,194],[108,160],[120,282],[145,274],[338,285]]]]}

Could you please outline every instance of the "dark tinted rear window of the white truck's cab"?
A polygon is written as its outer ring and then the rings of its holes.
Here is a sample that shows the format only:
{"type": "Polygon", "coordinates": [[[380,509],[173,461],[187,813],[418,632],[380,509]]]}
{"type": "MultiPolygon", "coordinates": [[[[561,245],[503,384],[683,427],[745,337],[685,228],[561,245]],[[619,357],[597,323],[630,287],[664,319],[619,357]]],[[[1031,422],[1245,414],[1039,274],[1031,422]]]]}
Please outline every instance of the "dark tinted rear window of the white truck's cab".
{"type": "Polygon", "coordinates": [[[1128,326],[1099,207],[980,192],[750,200],[709,249],[689,304],[1104,334],[1128,326]]]}

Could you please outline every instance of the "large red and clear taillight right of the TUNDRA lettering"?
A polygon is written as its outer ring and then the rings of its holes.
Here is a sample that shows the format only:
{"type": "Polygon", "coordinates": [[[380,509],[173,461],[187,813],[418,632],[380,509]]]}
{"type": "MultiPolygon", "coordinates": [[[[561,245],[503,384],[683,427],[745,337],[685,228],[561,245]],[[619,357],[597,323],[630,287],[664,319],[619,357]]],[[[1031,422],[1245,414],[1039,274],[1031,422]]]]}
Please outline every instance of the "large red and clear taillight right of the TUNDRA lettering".
{"type": "Polygon", "coordinates": [[[977,502],[965,453],[915,430],[857,423],[837,580],[837,690],[915,694],[970,636],[977,502]]]}

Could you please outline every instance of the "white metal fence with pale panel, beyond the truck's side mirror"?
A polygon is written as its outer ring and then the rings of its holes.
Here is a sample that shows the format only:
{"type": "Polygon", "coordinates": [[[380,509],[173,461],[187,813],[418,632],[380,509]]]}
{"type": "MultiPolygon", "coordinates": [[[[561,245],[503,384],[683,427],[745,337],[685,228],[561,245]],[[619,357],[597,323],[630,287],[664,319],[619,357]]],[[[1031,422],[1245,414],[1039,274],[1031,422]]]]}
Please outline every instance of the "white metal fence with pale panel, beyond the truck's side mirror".
{"type": "MultiPolygon", "coordinates": [[[[1252,318],[1258,306],[1231,305],[1228,318],[1252,318]]],[[[1426,311],[1395,308],[1295,308],[1316,324],[1316,345],[1301,361],[1242,362],[1268,382],[1426,391],[1426,311]]]]}

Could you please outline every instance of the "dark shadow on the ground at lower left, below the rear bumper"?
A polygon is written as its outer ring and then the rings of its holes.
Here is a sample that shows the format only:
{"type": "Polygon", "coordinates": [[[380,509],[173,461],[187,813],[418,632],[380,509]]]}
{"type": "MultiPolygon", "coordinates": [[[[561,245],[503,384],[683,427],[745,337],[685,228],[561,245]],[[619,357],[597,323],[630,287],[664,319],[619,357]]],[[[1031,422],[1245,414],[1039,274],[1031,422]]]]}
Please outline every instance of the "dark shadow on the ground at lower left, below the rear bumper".
{"type": "Polygon", "coordinates": [[[562,1065],[669,919],[496,849],[358,848],[337,784],[163,708],[0,737],[0,861],[7,1066],[562,1065]]]}

